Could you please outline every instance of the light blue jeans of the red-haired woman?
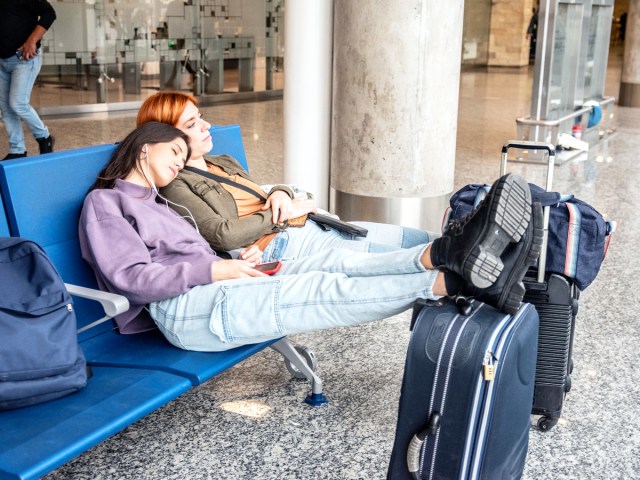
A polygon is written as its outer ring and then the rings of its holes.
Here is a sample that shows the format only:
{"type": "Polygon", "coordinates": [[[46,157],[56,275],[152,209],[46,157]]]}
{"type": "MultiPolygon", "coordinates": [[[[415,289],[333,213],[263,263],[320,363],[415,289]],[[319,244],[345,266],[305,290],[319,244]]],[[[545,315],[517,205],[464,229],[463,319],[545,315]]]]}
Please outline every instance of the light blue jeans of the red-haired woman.
{"type": "Polygon", "coordinates": [[[439,234],[386,223],[352,222],[366,228],[366,237],[352,237],[336,230],[325,231],[314,222],[289,227],[278,233],[262,254],[263,262],[295,260],[320,250],[345,248],[355,252],[382,253],[425,245],[439,234]]]}

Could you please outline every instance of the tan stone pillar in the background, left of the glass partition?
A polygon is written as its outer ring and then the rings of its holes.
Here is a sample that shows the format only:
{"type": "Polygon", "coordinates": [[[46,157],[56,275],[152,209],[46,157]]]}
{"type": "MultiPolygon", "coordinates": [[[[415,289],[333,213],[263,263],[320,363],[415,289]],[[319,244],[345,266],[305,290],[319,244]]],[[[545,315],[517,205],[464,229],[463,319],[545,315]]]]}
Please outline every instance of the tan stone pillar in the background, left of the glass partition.
{"type": "Polygon", "coordinates": [[[527,28],[533,0],[493,0],[489,31],[489,67],[529,65],[527,28]]]}

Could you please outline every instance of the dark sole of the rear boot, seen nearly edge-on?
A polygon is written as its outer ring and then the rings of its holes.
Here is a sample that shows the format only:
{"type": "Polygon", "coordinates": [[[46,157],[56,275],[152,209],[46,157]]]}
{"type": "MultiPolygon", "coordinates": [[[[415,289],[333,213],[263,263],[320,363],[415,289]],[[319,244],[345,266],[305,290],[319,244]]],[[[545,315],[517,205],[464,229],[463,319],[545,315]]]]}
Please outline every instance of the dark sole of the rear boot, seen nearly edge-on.
{"type": "Polygon", "coordinates": [[[533,231],[531,239],[529,240],[530,246],[529,248],[525,246],[523,254],[521,254],[521,257],[518,259],[518,266],[512,271],[511,278],[507,280],[504,286],[504,293],[498,302],[498,308],[500,310],[512,315],[518,311],[524,299],[526,289],[522,280],[529,270],[529,267],[535,265],[542,250],[544,222],[542,207],[540,207],[539,204],[536,207],[531,221],[533,222],[533,231]]]}

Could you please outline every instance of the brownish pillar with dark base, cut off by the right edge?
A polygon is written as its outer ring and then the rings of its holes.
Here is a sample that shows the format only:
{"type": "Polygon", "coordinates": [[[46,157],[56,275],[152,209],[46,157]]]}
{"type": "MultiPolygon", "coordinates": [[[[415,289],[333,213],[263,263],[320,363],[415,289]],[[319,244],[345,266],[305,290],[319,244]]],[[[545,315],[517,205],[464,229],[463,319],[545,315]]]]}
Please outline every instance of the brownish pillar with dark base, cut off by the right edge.
{"type": "Polygon", "coordinates": [[[640,0],[629,1],[618,104],[640,107],[640,0]]]}

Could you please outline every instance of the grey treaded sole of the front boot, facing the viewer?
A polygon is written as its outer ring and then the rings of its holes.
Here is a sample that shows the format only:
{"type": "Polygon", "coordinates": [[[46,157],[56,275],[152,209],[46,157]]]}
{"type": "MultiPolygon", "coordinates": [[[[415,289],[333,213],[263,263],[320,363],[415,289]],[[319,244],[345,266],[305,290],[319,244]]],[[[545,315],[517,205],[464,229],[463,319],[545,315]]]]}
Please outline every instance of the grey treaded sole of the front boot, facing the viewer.
{"type": "Polygon", "coordinates": [[[495,283],[504,267],[500,256],[520,241],[531,220],[531,191],[518,175],[498,179],[484,201],[489,202],[487,226],[464,263],[465,277],[478,288],[495,283]]]}

